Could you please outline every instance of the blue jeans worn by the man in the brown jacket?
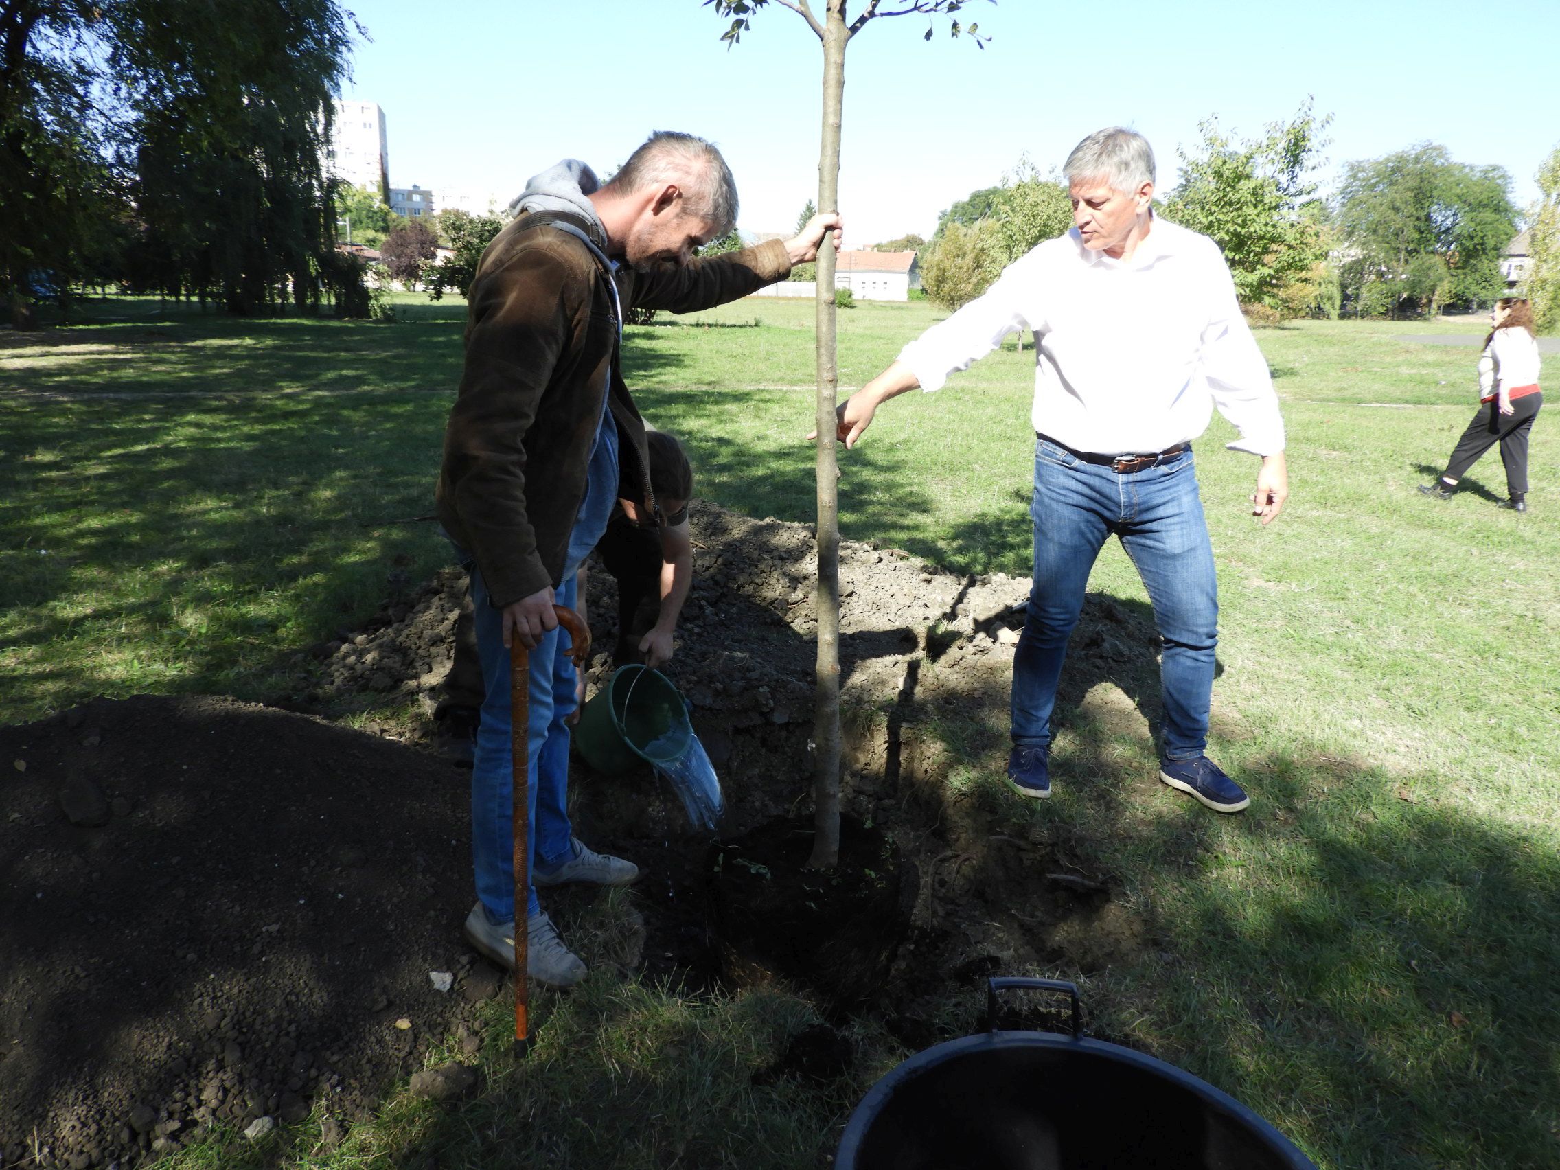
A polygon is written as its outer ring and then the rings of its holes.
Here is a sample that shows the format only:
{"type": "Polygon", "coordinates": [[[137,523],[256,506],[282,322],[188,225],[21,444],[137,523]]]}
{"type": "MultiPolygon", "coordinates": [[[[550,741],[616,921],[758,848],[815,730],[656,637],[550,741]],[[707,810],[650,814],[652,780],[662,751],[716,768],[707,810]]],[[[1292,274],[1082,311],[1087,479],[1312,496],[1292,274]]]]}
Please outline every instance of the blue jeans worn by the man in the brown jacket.
{"type": "MultiPolygon", "coordinates": [[[[554,593],[558,605],[574,608],[574,576],[569,574],[554,593]]],[[[495,922],[509,922],[515,917],[509,651],[504,649],[504,615],[493,608],[476,568],[471,569],[471,608],[477,655],[482,658],[482,682],[487,686],[471,766],[471,861],[477,899],[495,922]]],[[[558,627],[530,652],[527,844],[532,866],[558,866],[573,855],[568,810],[569,729],[563,722],[576,705],[569,644],[568,632],[558,627]]],[[[529,895],[527,914],[535,914],[540,909],[535,886],[529,895]]]]}

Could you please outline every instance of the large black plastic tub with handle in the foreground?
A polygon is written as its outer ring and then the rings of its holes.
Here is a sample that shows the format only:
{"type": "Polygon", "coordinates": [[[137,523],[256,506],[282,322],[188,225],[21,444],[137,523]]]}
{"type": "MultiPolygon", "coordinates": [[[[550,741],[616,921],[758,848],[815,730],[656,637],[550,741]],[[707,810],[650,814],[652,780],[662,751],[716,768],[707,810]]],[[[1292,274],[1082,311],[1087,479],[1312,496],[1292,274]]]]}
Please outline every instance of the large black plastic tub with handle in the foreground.
{"type": "Polygon", "coordinates": [[[1078,989],[991,980],[992,1031],[911,1056],[852,1114],[836,1170],[1315,1170],[1236,1098],[1087,1039],[1078,989]],[[997,1031],[997,992],[1072,997],[1072,1034],[997,1031]]]}

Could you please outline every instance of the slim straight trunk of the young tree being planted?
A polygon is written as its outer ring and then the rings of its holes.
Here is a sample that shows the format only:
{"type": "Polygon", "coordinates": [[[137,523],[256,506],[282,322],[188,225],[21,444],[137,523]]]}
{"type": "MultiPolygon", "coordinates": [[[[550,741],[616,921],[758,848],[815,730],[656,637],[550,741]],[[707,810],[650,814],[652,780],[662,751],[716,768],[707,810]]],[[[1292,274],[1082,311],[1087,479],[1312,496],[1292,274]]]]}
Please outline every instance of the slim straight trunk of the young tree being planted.
{"type": "MultiPolygon", "coordinates": [[[[839,211],[839,111],[846,90],[844,0],[828,0],[824,27],[824,134],[817,151],[817,209],[839,211]]],[[[813,714],[813,856],[810,866],[839,861],[839,465],[835,402],[839,382],[835,346],[835,250],[825,236],[817,253],[817,704],[813,714]]]]}

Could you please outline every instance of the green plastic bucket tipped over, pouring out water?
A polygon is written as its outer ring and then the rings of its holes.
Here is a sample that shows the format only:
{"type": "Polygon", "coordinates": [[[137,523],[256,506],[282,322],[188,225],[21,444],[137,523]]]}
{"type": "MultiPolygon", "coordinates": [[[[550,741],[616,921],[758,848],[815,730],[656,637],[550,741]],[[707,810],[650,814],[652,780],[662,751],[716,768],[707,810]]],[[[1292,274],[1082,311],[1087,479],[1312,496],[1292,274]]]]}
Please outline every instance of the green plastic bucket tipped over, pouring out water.
{"type": "Polygon", "coordinates": [[[574,743],[591,768],[608,775],[640,760],[675,764],[693,743],[688,704],[665,674],[619,666],[580,711],[574,743]]]}

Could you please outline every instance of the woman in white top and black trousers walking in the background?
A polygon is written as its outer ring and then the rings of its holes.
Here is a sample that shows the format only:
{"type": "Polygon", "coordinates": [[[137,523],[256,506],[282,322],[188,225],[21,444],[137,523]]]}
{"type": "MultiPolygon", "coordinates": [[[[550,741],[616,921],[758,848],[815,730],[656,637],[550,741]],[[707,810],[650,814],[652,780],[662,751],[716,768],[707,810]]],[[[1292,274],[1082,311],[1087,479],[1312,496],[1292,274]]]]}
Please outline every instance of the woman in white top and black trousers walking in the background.
{"type": "Polygon", "coordinates": [[[1527,512],[1527,432],[1533,429],[1544,396],[1538,392],[1538,342],[1533,340],[1533,307],[1519,296],[1502,296],[1490,310],[1490,335],[1479,359],[1479,413],[1457,440],[1446,470],[1420,491],[1451,499],[1452,491],[1479,457],[1496,443],[1505,465],[1510,499],[1501,507],[1527,512]]]}

